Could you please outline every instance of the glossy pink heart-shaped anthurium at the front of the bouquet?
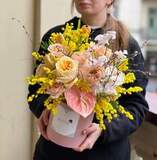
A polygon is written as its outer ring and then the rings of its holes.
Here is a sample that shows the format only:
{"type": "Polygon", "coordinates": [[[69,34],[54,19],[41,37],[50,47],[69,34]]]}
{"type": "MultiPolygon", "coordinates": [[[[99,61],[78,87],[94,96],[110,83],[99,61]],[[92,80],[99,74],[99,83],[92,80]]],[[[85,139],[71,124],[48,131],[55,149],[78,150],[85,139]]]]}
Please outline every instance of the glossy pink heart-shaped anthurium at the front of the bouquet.
{"type": "Polygon", "coordinates": [[[92,93],[87,93],[73,86],[64,93],[68,106],[75,112],[88,117],[94,110],[96,97],[92,93]]]}

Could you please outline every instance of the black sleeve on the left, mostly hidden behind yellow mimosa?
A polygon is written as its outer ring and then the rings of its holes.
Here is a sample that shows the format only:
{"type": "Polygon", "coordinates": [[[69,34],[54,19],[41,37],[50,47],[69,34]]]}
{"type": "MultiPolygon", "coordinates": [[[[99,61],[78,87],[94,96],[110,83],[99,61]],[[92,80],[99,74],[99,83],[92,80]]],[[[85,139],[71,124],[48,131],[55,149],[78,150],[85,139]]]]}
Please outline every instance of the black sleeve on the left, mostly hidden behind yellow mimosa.
{"type": "MultiPolygon", "coordinates": [[[[49,37],[51,35],[51,33],[53,32],[61,32],[61,28],[63,27],[63,25],[60,25],[60,26],[56,26],[52,29],[50,29],[42,38],[42,42],[48,42],[49,40],[49,37]]],[[[39,54],[41,55],[44,55],[47,50],[45,50],[42,45],[40,45],[40,48],[39,48],[39,54]]],[[[40,62],[39,61],[36,61],[36,66],[39,65],[40,62]]],[[[34,68],[34,74],[35,74],[35,70],[36,70],[36,67],[34,68]]],[[[39,89],[39,85],[29,85],[28,86],[28,96],[31,96],[32,94],[35,94],[36,91],[39,89]]],[[[44,101],[47,99],[48,95],[46,94],[40,94],[38,95],[37,98],[34,98],[33,101],[31,102],[28,102],[28,105],[29,105],[29,108],[30,110],[32,111],[32,113],[37,117],[39,118],[42,111],[44,110],[44,101]]]]}

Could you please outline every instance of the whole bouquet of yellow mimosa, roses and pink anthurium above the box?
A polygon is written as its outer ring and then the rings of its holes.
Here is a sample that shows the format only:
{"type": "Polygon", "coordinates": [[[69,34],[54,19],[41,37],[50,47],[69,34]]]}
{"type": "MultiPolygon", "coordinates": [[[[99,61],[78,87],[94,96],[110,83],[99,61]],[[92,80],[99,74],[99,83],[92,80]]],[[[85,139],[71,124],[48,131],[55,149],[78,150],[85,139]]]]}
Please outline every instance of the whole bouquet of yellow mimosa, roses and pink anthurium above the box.
{"type": "Polygon", "coordinates": [[[123,94],[140,92],[142,88],[125,88],[136,78],[129,70],[127,51],[113,52],[110,41],[116,38],[114,31],[98,35],[90,40],[91,28],[67,24],[63,33],[52,33],[43,47],[47,53],[32,55],[41,63],[35,75],[27,80],[30,85],[39,84],[32,101],[40,94],[48,94],[44,106],[55,116],[60,103],[67,105],[86,118],[95,112],[100,127],[106,129],[104,118],[111,122],[120,114],[133,120],[131,113],[118,103],[123,94]]]}

